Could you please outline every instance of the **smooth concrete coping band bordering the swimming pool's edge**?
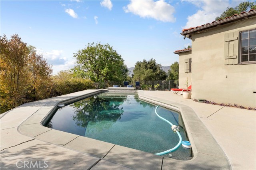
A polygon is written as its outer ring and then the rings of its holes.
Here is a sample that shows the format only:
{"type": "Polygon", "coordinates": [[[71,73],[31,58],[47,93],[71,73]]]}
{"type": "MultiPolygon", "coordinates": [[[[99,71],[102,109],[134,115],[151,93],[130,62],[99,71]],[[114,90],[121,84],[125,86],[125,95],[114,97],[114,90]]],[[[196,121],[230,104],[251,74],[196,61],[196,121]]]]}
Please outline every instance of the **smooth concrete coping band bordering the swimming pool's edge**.
{"type": "Polygon", "coordinates": [[[44,127],[52,116],[59,104],[67,104],[82,98],[90,97],[108,90],[88,90],[76,93],[76,95],[64,95],[48,99],[48,103],[34,112],[28,119],[18,126],[18,132],[42,140],[51,144],[55,144],[70,150],[89,154],[91,156],[107,160],[132,169],[182,169],[189,167],[190,169],[208,169],[214,167],[218,169],[231,169],[230,163],[222,151],[222,148],[214,140],[212,134],[208,131],[202,121],[198,118],[192,108],[175,103],[168,100],[162,100],[157,97],[151,97],[144,94],[144,91],[138,90],[139,99],[174,109],[182,115],[184,126],[188,138],[192,145],[193,158],[191,160],[174,160],[163,156],[156,156],[148,152],[142,152],[124,146],[103,142],[84,136],[62,132],[51,128],[44,127]],[[86,143],[86,146],[78,146],[80,143],[86,143]],[[210,147],[209,147],[210,146],[210,147]],[[214,160],[214,161],[213,161],[214,160]],[[214,164],[218,162],[218,164],[214,164]]]}

